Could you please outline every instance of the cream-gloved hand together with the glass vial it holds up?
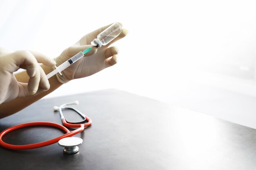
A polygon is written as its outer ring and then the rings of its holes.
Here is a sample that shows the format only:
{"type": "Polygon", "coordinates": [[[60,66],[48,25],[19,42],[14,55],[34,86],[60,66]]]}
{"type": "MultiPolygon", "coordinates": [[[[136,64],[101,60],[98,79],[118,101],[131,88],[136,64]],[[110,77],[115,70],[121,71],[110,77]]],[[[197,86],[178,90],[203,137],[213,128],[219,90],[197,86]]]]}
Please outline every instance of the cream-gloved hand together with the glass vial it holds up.
{"type": "Polygon", "coordinates": [[[83,57],[70,65],[61,72],[62,75],[56,74],[59,82],[66,83],[72,79],[87,77],[104,68],[115,65],[117,63],[119,50],[115,46],[109,46],[121,38],[124,38],[127,34],[128,31],[122,29],[120,23],[114,23],[83,36],[73,46],[65,49],[61,55],[54,60],[57,63],[56,66],[59,66],[80,51],[92,47],[92,49],[85,54],[85,56],[90,57],[83,57]]]}

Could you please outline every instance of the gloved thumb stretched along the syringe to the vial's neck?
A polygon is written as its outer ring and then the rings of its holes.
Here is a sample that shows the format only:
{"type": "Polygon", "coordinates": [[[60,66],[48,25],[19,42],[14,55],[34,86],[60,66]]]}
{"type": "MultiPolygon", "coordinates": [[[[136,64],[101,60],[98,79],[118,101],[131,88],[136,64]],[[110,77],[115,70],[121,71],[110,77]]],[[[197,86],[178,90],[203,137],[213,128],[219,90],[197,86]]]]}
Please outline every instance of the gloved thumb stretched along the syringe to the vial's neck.
{"type": "Polygon", "coordinates": [[[83,45],[83,46],[73,45],[66,49],[66,55],[67,57],[70,58],[76,55],[77,53],[79,53],[80,51],[84,51],[90,47],[92,47],[92,49],[88,53],[86,53],[84,56],[90,56],[95,54],[97,52],[97,47],[93,45],[83,45]]]}

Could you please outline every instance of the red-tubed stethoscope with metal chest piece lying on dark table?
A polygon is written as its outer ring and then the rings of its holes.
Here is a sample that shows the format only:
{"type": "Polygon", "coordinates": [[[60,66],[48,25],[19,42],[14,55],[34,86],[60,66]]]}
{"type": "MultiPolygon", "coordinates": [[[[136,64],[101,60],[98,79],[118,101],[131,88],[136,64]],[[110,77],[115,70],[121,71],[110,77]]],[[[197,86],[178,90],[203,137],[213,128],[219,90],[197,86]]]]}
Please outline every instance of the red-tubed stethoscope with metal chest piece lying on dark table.
{"type": "Polygon", "coordinates": [[[52,122],[46,122],[46,121],[30,122],[30,123],[16,125],[11,128],[7,128],[6,130],[4,130],[0,133],[0,146],[7,148],[7,149],[11,149],[11,150],[27,150],[27,149],[41,148],[41,147],[55,144],[56,142],[58,142],[58,144],[60,146],[64,147],[64,149],[63,149],[64,153],[78,152],[79,148],[77,147],[77,145],[81,144],[83,142],[83,139],[81,139],[79,137],[72,137],[72,136],[76,135],[77,133],[82,132],[85,127],[90,126],[92,124],[92,120],[89,117],[85,116],[83,113],[81,113],[76,108],[68,106],[68,105],[72,105],[72,104],[78,105],[79,102],[74,101],[71,103],[63,104],[59,107],[54,106],[54,111],[57,111],[57,110],[59,111],[59,113],[61,115],[62,123],[64,126],[62,126],[60,124],[52,123],[52,122]],[[64,110],[64,109],[74,110],[81,117],[83,117],[83,121],[79,121],[79,122],[67,121],[62,113],[62,110],[64,110]],[[51,139],[49,141],[44,141],[44,142],[40,142],[40,143],[36,143],[36,144],[29,144],[29,145],[12,145],[12,144],[7,144],[4,141],[2,141],[2,137],[4,135],[6,135],[7,133],[9,133],[13,130],[28,127],[28,126],[53,126],[53,127],[62,129],[64,132],[66,132],[66,134],[56,137],[54,139],[51,139]],[[70,130],[68,130],[65,126],[68,128],[78,128],[78,129],[70,132],[70,130]]]}

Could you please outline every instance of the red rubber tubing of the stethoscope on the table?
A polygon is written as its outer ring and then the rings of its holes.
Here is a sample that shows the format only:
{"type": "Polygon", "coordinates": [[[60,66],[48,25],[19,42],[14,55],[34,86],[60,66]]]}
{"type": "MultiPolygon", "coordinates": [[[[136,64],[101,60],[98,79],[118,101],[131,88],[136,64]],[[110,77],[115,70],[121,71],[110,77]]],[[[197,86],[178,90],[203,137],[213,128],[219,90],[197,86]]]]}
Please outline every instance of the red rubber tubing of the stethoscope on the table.
{"type": "Polygon", "coordinates": [[[0,133],[0,146],[7,148],[7,149],[11,149],[11,150],[27,150],[27,149],[35,149],[35,148],[41,148],[44,146],[52,145],[65,137],[71,137],[73,135],[76,135],[77,133],[82,132],[85,127],[90,126],[92,124],[92,120],[89,117],[85,116],[85,119],[87,121],[87,123],[85,123],[85,124],[69,124],[69,123],[67,123],[66,119],[62,119],[62,123],[64,126],[62,126],[60,124],[52,123],[52,122],[45,122],[45,121],[30,122],[30,123],[16,125],[11,128],[8,128],[0,133]],[[13,130],[28,127],[28,126],[53,126],[53,127],[60,128],[61,130],[65,131],[66,134],[56,137],[54,139],[51,139],[49,141],[43,141],[40,143],[29,144],[29,145],[12,145],[12,144],[7,144],[2,140],[2,137],[4,135],[6,135],[7,133],[9,133],[13,130]],[[78,127],[79,128],[70,132],[65,126],[69,127],[69,128],[78,128],[78,127]]]}

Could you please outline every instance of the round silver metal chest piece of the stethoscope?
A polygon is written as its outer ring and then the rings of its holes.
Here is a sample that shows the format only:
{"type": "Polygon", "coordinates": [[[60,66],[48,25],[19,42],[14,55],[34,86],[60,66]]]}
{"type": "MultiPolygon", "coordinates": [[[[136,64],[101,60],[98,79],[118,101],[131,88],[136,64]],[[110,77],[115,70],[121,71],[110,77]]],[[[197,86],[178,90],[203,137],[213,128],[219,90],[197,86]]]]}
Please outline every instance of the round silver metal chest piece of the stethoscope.
{"type": "Polygon", "coordinates": [[[78,145],[83,143],[83,139],[80,137],[65,137],[58,141],[60,146],[63,146],[63,152],[72,154],[78,152],[78,145]]]}

